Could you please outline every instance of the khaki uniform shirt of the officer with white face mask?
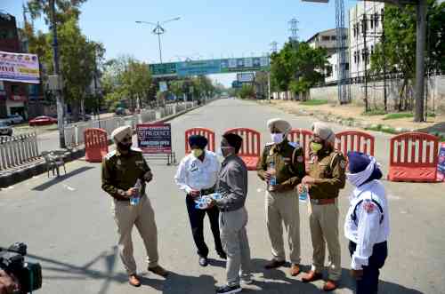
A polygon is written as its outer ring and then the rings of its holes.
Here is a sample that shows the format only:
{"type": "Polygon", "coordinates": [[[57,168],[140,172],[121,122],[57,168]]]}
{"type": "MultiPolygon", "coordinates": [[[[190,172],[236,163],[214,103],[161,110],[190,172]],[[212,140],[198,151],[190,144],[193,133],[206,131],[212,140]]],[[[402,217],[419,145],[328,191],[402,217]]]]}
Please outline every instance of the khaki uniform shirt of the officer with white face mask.
{"type": "Polygon", "coordinates": [[[270,163],[275,164],[277,184],[289,188],[300,184],[305,176],[303,148],[285,139],[280,144],[268,144],[258,162],[256,171],[260,179],[265,179],[264,172],[270,163]]]}

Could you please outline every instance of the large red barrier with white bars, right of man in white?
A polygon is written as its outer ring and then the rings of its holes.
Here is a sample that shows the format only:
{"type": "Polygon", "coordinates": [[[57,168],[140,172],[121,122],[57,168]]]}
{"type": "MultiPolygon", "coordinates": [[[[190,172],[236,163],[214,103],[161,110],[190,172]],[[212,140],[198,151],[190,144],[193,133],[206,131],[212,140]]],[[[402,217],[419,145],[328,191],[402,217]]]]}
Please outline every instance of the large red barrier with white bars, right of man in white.
{"type": "Polygon", "coordinates": [[[439,138],[423,132],[406,132],[390,141],[388,179],[435,182],[439,159],[439,138]]]}

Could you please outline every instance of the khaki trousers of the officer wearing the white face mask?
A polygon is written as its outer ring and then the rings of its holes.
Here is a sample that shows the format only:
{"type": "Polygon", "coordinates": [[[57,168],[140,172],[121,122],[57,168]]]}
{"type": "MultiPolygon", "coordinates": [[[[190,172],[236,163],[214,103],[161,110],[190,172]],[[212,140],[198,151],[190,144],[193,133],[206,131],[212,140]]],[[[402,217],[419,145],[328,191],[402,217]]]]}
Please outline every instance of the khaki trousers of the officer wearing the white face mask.
{"type": "Polygon", "coordinates": [[[287,233],[290,262],[301,262],[300,203],[295,190],[286,192],[266,191],[266,225],[275,260],[286,260],[283,242],[283,223],[287,233]]]}

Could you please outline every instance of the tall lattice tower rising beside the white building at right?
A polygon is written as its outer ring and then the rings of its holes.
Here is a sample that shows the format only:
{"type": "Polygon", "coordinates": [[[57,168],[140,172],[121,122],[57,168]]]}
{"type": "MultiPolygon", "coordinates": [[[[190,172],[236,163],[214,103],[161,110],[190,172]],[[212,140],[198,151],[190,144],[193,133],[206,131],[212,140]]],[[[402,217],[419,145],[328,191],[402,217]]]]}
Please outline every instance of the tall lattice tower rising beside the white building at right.
{"type": "Polygon", "coordinates": [[[349,76],[346,70],[346,28],[344,27],[344,0],[336,0],[336,52],[337,52],[337,85],[338,101],[348,103],[350,97],[349,76]]]}

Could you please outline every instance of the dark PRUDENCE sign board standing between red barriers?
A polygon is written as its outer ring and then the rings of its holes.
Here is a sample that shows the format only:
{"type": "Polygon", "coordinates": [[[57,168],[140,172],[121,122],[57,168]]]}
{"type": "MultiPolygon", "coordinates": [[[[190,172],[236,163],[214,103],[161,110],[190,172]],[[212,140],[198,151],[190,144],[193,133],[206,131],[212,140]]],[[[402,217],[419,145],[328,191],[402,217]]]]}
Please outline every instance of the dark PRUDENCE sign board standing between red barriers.
{"type": "Polygon", "coordinates": [[[145,154],[172,153],[172,126],[170,123],[141,123],[136,126],[138,147],[145,154]]]}

